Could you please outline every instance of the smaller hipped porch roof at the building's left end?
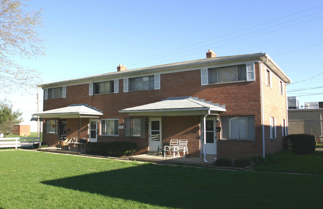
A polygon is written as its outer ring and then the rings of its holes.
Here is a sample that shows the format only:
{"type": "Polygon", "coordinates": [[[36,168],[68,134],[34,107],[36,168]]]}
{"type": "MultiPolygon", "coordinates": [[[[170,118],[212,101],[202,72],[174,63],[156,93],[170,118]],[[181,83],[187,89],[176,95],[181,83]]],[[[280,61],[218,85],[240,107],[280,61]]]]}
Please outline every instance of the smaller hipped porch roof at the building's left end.
{"type": "Polygon", "coordinates": [[[98,118],[103,113],[84,105],[68,106],[33,114],[41,118],[98,118]]]}

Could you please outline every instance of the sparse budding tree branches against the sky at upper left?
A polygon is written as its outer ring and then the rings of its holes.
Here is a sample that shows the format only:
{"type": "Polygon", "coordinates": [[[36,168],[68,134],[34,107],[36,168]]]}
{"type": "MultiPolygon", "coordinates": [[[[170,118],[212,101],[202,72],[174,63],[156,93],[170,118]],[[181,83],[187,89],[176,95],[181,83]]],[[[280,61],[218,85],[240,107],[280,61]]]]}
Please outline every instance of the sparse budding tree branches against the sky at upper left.
{"type": "MultiPolygon", "coordinates": [[[[30,1],[30,0],[26,0],[30,1]]],[[[26,12],[23,0],[0,0],[0,92],[15,89],[29,92],[29,87],[42,82],[40,73],[18,65],[15,57],[23,59],[45,55],[42,42],[36,32],[43,27],[42,9],[26,12]]]]}

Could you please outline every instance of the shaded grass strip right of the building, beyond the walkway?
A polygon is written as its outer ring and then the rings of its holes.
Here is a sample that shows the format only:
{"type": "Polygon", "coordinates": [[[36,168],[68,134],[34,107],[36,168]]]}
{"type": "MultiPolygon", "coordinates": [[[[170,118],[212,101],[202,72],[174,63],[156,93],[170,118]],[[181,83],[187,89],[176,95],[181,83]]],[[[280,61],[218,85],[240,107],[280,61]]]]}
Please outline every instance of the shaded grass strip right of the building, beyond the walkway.
{"type": "Polygon", "coordinates": [[[276,171],[287,173],[323,174],[323,154],[293,155],[279,164],[255,166],[257,171],[276,171]]]}

